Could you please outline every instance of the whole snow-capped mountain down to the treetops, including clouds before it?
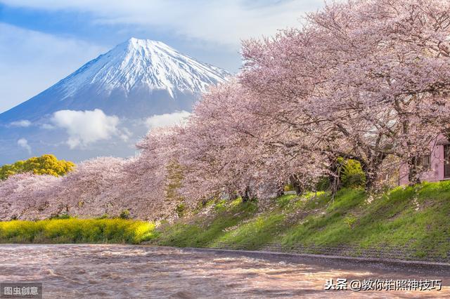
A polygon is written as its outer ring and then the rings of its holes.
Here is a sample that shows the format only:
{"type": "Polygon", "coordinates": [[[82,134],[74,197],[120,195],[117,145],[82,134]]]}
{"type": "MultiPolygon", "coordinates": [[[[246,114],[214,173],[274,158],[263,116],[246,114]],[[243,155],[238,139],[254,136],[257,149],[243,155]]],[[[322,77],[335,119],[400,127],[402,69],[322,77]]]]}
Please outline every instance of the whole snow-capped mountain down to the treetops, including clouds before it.
{"type": "Polygon", "coordinates": [[[132,155],[149,126],[188,115],[229,76],[160,41],[131,38],[0,114],[0,164],[44,153],[132,155]]]}

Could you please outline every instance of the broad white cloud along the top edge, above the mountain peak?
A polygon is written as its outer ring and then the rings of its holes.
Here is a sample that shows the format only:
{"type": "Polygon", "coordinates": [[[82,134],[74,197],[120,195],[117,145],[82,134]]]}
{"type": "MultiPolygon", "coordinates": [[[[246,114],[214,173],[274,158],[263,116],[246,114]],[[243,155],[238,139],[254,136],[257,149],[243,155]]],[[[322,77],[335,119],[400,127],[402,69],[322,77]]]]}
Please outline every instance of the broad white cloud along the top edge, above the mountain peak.
{"type": "Polygon", "coordinates": [[[240,39],[276,33],[298,26],[305,11],[323,6],[323,0],[6,0],[11,6],[49,11],[73,10],[93,13],[94,22],[131,24],[171,29],[194,39],[214,41],[236,48],[240,39]]]}

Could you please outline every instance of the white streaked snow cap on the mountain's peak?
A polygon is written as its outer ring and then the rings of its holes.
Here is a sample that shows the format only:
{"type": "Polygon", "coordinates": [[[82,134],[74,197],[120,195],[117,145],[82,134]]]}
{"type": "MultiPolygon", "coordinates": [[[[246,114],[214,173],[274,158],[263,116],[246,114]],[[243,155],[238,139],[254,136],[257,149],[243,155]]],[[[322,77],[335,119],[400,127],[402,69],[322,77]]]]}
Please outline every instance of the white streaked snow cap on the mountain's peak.
{"type": "Polygon", "coordinates": [[[207,86],[224,82],[228,76],[223,69],[198,62],[162,41],[131,37],[52,88],[63,91],[63,99],[92,87],[98,93],[120,89],[128,94],[135,88],[166,90],[173,98],[175,91],[205,92],[207,86]]]}

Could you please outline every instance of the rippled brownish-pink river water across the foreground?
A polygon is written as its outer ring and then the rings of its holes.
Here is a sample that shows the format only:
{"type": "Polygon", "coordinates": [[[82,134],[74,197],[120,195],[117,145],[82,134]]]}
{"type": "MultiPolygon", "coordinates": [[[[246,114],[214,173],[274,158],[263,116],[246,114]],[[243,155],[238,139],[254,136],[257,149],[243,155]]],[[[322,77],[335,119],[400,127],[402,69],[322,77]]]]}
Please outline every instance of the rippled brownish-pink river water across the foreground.
{"type": "Polygon", "coordinates": [[[0,282],[41,282],[44,298],[450,298],[449,273],[285,263],[177,248],[0,245],[0,282]],[[442,291],[325,291],[326,279],[443,279],[442,291]]]}

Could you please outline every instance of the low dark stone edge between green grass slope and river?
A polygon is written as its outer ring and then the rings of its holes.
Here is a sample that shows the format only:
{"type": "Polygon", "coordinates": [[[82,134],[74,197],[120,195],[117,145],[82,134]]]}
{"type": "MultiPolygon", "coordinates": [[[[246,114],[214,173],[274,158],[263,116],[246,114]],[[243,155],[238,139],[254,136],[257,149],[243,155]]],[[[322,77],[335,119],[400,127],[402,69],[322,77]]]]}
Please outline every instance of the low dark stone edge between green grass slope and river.
{"type": "Polygon", "coordinates": [[[266,260],[279,260],[285,263],[314,263],[317,265],[336,265],[343,268],[353,269],[355,265],[358,267],[368,266],[380,270],[409,270],[413,272],[430,272],[446,274],[450,277],[450,263],[412,261],[412,260],[394,260],[388,258],[357,258],[342,255],[320,255],[309,253],[285,253],[273,251],[246,251],[238,249],[222,249],[222,248],[198,248],[198,247],[173,247],[158,246],[155,244],[141,245],[154,246],[160,248],[176,248],[186,252],[209,252],[217,255],[237,255],[249,258],[262,258],[266,260]]]}

